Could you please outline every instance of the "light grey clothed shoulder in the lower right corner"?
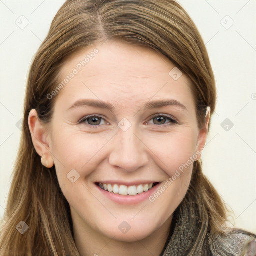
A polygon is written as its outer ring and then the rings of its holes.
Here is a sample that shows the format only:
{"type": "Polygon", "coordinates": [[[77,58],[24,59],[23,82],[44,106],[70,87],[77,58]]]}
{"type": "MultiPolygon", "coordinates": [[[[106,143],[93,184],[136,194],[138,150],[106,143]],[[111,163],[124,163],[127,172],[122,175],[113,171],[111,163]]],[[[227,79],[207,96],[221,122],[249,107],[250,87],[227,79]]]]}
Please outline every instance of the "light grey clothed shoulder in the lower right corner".
{"type": "Polygon", "coordinates": [[[256,235],[253,233],[242,229],[233,229],[225,235],[215,237],[215,253],[213,255],[245,255],[249,243],[255,241],[255,239],[256,235]]]}

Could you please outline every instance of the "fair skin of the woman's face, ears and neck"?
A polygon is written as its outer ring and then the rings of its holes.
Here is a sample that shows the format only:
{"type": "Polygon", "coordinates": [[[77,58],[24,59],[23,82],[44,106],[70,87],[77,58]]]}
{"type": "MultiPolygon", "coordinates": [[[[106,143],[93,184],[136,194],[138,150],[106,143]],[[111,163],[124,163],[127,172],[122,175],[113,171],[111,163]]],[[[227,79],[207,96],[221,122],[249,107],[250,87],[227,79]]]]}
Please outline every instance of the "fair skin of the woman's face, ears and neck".
{"type": "Polygon", "coordinates": [[[48,167],[55,165],[80,255],[159,255],[173,212],[187,192],[192,164],[154,201],[149,197],[202,150],[208,118],[199,129],[189,79],[183,74],[174,80],[169,72],[175,65],[140,46],[109,41],[82,49],[66,60],[59,81],[95,48],[99,52],[56,96],[48,130],[31,110],[33,144],[48,167]],[[80,99],[108,102],[113,109],[84,104],[70,108],[80,99]],[[164,99],[172,104],[144,108],[164,99]],[[97,116],[78,123],[87,115],[97,116]],[[73,169],[72,176],[80,175],[75,182],[67,178],[73,169]],[[157,186],[119,195],[99,183],[157,186]]]}

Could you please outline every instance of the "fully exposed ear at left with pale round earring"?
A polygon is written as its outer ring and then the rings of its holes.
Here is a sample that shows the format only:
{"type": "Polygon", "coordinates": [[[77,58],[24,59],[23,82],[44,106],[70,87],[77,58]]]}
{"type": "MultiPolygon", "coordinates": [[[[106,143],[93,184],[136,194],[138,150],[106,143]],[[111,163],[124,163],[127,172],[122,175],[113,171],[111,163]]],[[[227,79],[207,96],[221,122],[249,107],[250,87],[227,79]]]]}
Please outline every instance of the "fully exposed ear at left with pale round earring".
{"type": "MultiPolygon", "coordinates": [[[[36,152],[42,157],[42,163],[47,162],[46,165],[53,166],[53,158],[50,153],[48,133],[45,125],[42,124],[38,118],[35,109],[30,110],[28,115],[28,126],[31,133],[32,142],[36,152]]],[[[52,166],[46,166],[48,168],[52,166]]]]}

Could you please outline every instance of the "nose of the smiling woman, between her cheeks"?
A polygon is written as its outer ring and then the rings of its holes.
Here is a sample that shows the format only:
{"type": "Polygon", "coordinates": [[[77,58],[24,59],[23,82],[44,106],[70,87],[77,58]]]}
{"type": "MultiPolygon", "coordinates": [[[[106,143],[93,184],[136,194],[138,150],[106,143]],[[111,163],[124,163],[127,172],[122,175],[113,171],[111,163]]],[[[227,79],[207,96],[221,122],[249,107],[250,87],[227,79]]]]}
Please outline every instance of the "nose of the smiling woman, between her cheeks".
{"type": "Polygon", "coordinates": [[[135,134],[133,125],[126,131],[118,128],[112,138],[109,164],[118,166],[126,172],[132,172],[148,163],[146,145],[135,134]]]}

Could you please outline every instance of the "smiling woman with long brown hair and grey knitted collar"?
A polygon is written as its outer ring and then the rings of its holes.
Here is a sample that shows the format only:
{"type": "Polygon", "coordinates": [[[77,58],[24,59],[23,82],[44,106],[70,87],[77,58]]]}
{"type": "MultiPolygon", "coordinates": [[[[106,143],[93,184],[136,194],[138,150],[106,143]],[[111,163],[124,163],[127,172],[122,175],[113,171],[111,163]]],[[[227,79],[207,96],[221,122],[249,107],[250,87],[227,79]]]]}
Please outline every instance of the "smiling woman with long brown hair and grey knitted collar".
{"type": "Polygon", "coordinates": [[[30,69],[0,255],[252,253],[202,173],[215,102],[178,3],[67,0],[30,69]]]}

